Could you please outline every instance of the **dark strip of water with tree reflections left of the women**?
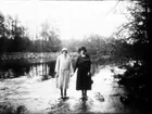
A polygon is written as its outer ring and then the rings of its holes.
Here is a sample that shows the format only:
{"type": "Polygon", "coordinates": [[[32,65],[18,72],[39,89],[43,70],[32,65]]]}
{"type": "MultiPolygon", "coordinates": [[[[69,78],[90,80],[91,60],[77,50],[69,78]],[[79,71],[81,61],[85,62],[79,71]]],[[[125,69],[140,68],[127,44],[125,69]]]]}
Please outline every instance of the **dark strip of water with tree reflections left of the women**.
{"type": "Polygon", "coordinates": [[[0,62],[0,72],[13,71],[15,77],[18,76],[43,76],[54,75],[55,61],[40,60],[7,60],[0,62]]]}

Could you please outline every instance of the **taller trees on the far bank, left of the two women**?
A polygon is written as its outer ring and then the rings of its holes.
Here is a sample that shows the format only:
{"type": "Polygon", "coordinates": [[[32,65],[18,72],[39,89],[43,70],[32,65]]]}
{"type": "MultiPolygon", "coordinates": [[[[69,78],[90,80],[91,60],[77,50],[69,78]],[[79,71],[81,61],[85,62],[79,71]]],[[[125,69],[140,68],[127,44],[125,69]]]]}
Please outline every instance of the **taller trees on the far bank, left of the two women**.
{"type": "Polygon", "coordinates": [[[46,31],[42,28],[36,40],[31,40],[17,17],[0,13],[0,53],[59,51],[61,41],[58,33],[52,29],[46,31]]]}

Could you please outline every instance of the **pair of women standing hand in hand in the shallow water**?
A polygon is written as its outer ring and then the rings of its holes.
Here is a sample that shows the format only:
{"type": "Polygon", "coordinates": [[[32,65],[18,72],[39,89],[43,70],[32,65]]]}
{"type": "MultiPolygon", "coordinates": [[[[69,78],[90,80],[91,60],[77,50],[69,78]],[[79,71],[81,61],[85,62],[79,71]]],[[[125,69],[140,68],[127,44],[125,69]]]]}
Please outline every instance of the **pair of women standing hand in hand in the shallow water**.
{"type": "MultiPolygon", "coordinates": [[[[76,90],[81,90],[81,96],[87,97],[87,90],[91,90],[91,61],[85,47],[79,49],[79,56],[76,61],[74,72],[77,69],[76,90]]],[[[73,75],[72,59],[67,55],[67,49],[62,49],[62,54],[56,59],[55,65],[56,84],[61,89],[61,98],[66,98],[69,77],[73,75]],[[64,91],[64,93],[63,93],[64,91]],[[64,94],[64,96],[63,96],[64,94]]]]}

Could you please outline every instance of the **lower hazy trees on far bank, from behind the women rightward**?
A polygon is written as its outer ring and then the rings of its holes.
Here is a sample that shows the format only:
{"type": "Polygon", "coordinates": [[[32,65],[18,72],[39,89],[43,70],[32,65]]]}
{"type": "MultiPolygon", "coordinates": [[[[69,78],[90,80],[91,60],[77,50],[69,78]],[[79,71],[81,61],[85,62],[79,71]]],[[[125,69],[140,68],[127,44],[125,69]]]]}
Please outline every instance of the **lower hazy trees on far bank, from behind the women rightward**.
{"type": "Polygon", "coordinates": [[[81,40],[71,39],[62,41],[62,47],[67,47],[71,51],[77,52],[79,47],[86,47],[89,54],[97,55],[132,55],[132,45],[114,37],[103,37],[99,35],[90,35],[81,40]]]}

